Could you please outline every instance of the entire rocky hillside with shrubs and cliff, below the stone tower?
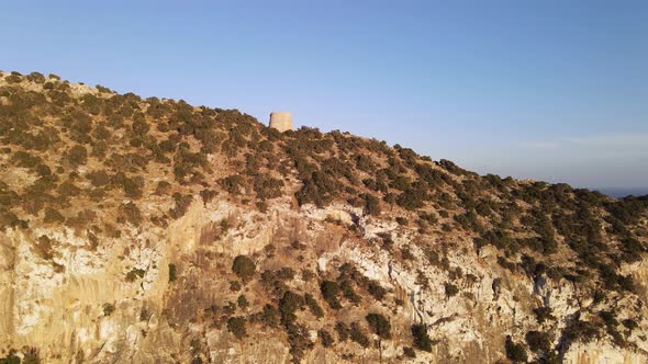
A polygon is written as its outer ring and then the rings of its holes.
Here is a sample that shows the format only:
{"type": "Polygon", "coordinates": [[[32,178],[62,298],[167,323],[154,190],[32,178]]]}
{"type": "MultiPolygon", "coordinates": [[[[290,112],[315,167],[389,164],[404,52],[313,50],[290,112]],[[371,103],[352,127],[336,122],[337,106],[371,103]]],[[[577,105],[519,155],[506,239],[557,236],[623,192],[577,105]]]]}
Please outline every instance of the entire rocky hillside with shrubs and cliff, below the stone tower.
{"type": "Polygon", "coordinates": [[[0,73],[0,363],[646,363],[648,197],[0,73]]]}

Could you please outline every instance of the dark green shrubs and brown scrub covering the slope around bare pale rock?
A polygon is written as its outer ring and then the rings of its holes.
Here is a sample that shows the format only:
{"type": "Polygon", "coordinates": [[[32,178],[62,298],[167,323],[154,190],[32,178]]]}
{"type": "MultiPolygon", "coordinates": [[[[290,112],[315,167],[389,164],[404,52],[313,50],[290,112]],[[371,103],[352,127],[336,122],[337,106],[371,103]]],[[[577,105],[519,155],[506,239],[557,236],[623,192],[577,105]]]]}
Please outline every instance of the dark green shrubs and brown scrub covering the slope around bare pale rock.
{"type": "MultiPolygon", "coordinates": [[[[482,177],[448,160],[433,161],[409,148],[339,130],[302,127],[281,134],[236,110],[142,99],[100,86],[79,94],[69,82],[37,72],[3,73],[0,120],[0,169],[15,171],[15,179],[0,175],[0,229],[68,227],[101,251],[113,239],[164,230],[223,201],[259,216],[273,213],[279,203],[295,209],[340,203],[356,208],[351,223],[326,220],[332,234],[378,247],[405,270],[414,266],[422,292],[445,296],[448,305],[474,299],[467,286],[482,278],[448,259],[458,237],[469,242],[462,255],[476,253],[487,263],[492,259],[499,275],[568,282],[583,295],[591,293],[599,306],[589,316],[566,319],[549,307],[533,309],[533,330],[506,337],[503,352],[512,362],[551,363],[556,342],[563,350],[606,338],[622,348],[640,326],[640,318],[618,315],[605,304],[619,296],[636,298],[643,289],[624,266],[648,252],[648,196],[614,200],[566,184],[482,177]],[[391,230],[365,239],[366,223],[377,219],[392,224],[391,230]],[[421,260],[444,278],[435,283],[417,271],[421,260]],[[567,325],[562,328],[558,320],[567,325]]],[[[392,348],[402,348],[402,360],[436,352],[443,338],[433,327],[407,322],[403,328],[393,319],[407,304],[394,292],[398,287],[365,276],[348,262],[335,262],[334,273],[314,268],[309,252],[329,241],[300,240],[297,231],[288,242],[271,241],[266,250],[232,261],[215,253],[225,237],[249,224],[234,215],[202,234],[195,243],[208,248],[195,262],[186,265],[174,257],[181,265],[168,264],[167,288],[178,296],[187,286],[200,285],[192,281],[193,270],[203,260],[217,262],[214,272],[226,277],[225,300],[200,302],[206,307],[182,317],[187,322],[226,328],[237,340],[268,330],[284,338],[294,362],[319,344],[369,350],[391,340],[392,348]]],[[[45,235],[33,240],[34,257],[60,270],[56,241],[45,235]]],[[[155,278],[153,272],[127,265],[121,274],[136,287],[155,278]]],[[[502,289],[506,280],[495,278],[495,300],[502,289]]],[[[197,305],[202,299],[187,296],[197,305]]],[[[113,304],[99,307],[105,319],[114,319],[113,304]]],[[[177,312],[166,314],[172,320],[177,312]]],[[[0,362],[14,361],[14,354],[0,362]]]]}

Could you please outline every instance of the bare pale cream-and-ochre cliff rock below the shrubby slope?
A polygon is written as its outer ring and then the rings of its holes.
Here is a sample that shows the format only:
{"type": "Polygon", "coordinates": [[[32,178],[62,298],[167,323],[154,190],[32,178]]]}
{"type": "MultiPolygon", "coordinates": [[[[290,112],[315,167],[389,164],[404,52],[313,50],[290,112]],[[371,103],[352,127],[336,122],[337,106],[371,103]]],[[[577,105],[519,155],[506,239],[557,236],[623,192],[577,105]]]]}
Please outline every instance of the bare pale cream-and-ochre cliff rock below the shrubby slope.
{"type": "MultiPolygon", "coordinates": [[[[305,205],[294,211],[286,201],[259,214],[223,202],[206,206],[194,202],[166,229],[148,226],[133,230],[103,242],[101,246],[110,248],[94,252],[88,251],[81,239],[56,229],[40,229],[34,235],[49,235],[56,240],[52,261],[34,254],[32,237],[16,231],[2,236],[5,254],[0,280],[7,283],[2,285],[2,343],[38,348],[47,362],[79,362],[83,357],[154,363],[194,356],[233,363],[259,359],[265,363],[290,362],[290,344],[280,329],[248,323],[248,335],[237,339],[219,317],[222,307],[236,302],[241,294],[249,306],[235,311],[248,318],[272,303],[259,282],[262,278],[246,283],[241,291],[231,289],[231,281],[236,281],[231,265],[239,254],[256,257],[259,272],[281,268],[297,272],[286,282],[293,292],[319,294],[319,281],[304,275],[334,277],[345,263],[351,264],[358,276],[386,289],[386,295],[376,300],[356,288],[357,294],[368,297],[356,305],[344,305],[339,311],[321,302],[324,316],[320,318],[306,308],[299,311],[300,322],[308,328],[308,342],[313,345],[302,356],[308,363],[357,362],[360,357],[401,362],[403,348],[411,345],[413,323],[425,325],[435,344],[431,352],[416,352],[416,357],[405,361],[495,362],[505,357],[505,334],[546,327],[534,318],[534,308],[549,303],[552,315],[560,318],[558,326],[565,326],[576,312],[593,305],[583,302],[571,283],[547,281],[538,287],[538,280],[493,269],[488,252],[479,255],[463,249],[469,247],[465,239],[445,248],[442,241],[431,241],[446,251],[450,269],[431,264],[414,244],[425,237],[348,205],[305,205]],[[221,227],[223,220],[228,221],[226,230],[221,227]],[[356,226],[351,228],[356,234],[348,232],[351,226],[356,226]],[[378,242],[382,239],[379,236],[391,238],[390,250],[407,248],[413,258],[394,257],[378,242]],[[295,241],[304,247],[294,248],[295,241]],[[174,282],[169,282],[169,264],[177,270],[174,282]],[[55,269],[59,265],[65,269],[55,269]],[[130,282],[129,272],[137,268],[143,275],[130,282]],[[461,274],[456,273],[458,268],[461,274]],[[458,287],[457,294],[448,296],[448,282],[458,287]],[[493,282],[500,282],[499,288],[493,282]],[[338,342],[335,350],[317,344],[323,328],[335,332],[332,326],[338,320],[362,322],[367,312],[390,317],[392,338],[380,348],[362,348],[353,341],[338,342]]],[[[624,316],[637,309],[618,304],[624,316]]],[[[630,337],[640,350],[619,350],[606,340],[574,343],[563,353],[563,360],[644,363],[641,350],[647,348],[640,339],[641,330],[643,326],[630,337]]]]}

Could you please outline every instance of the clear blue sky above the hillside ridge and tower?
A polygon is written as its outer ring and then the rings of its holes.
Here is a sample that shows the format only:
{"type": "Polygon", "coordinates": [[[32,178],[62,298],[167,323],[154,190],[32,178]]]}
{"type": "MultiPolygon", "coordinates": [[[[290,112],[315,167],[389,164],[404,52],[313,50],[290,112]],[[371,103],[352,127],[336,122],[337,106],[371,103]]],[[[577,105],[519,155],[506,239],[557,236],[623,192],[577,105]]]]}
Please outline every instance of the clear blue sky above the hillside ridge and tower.
{"type": "Polygon", "coordinates": [[[15,1],[0,69],[648,187],[648,1],[15,1]]]}

